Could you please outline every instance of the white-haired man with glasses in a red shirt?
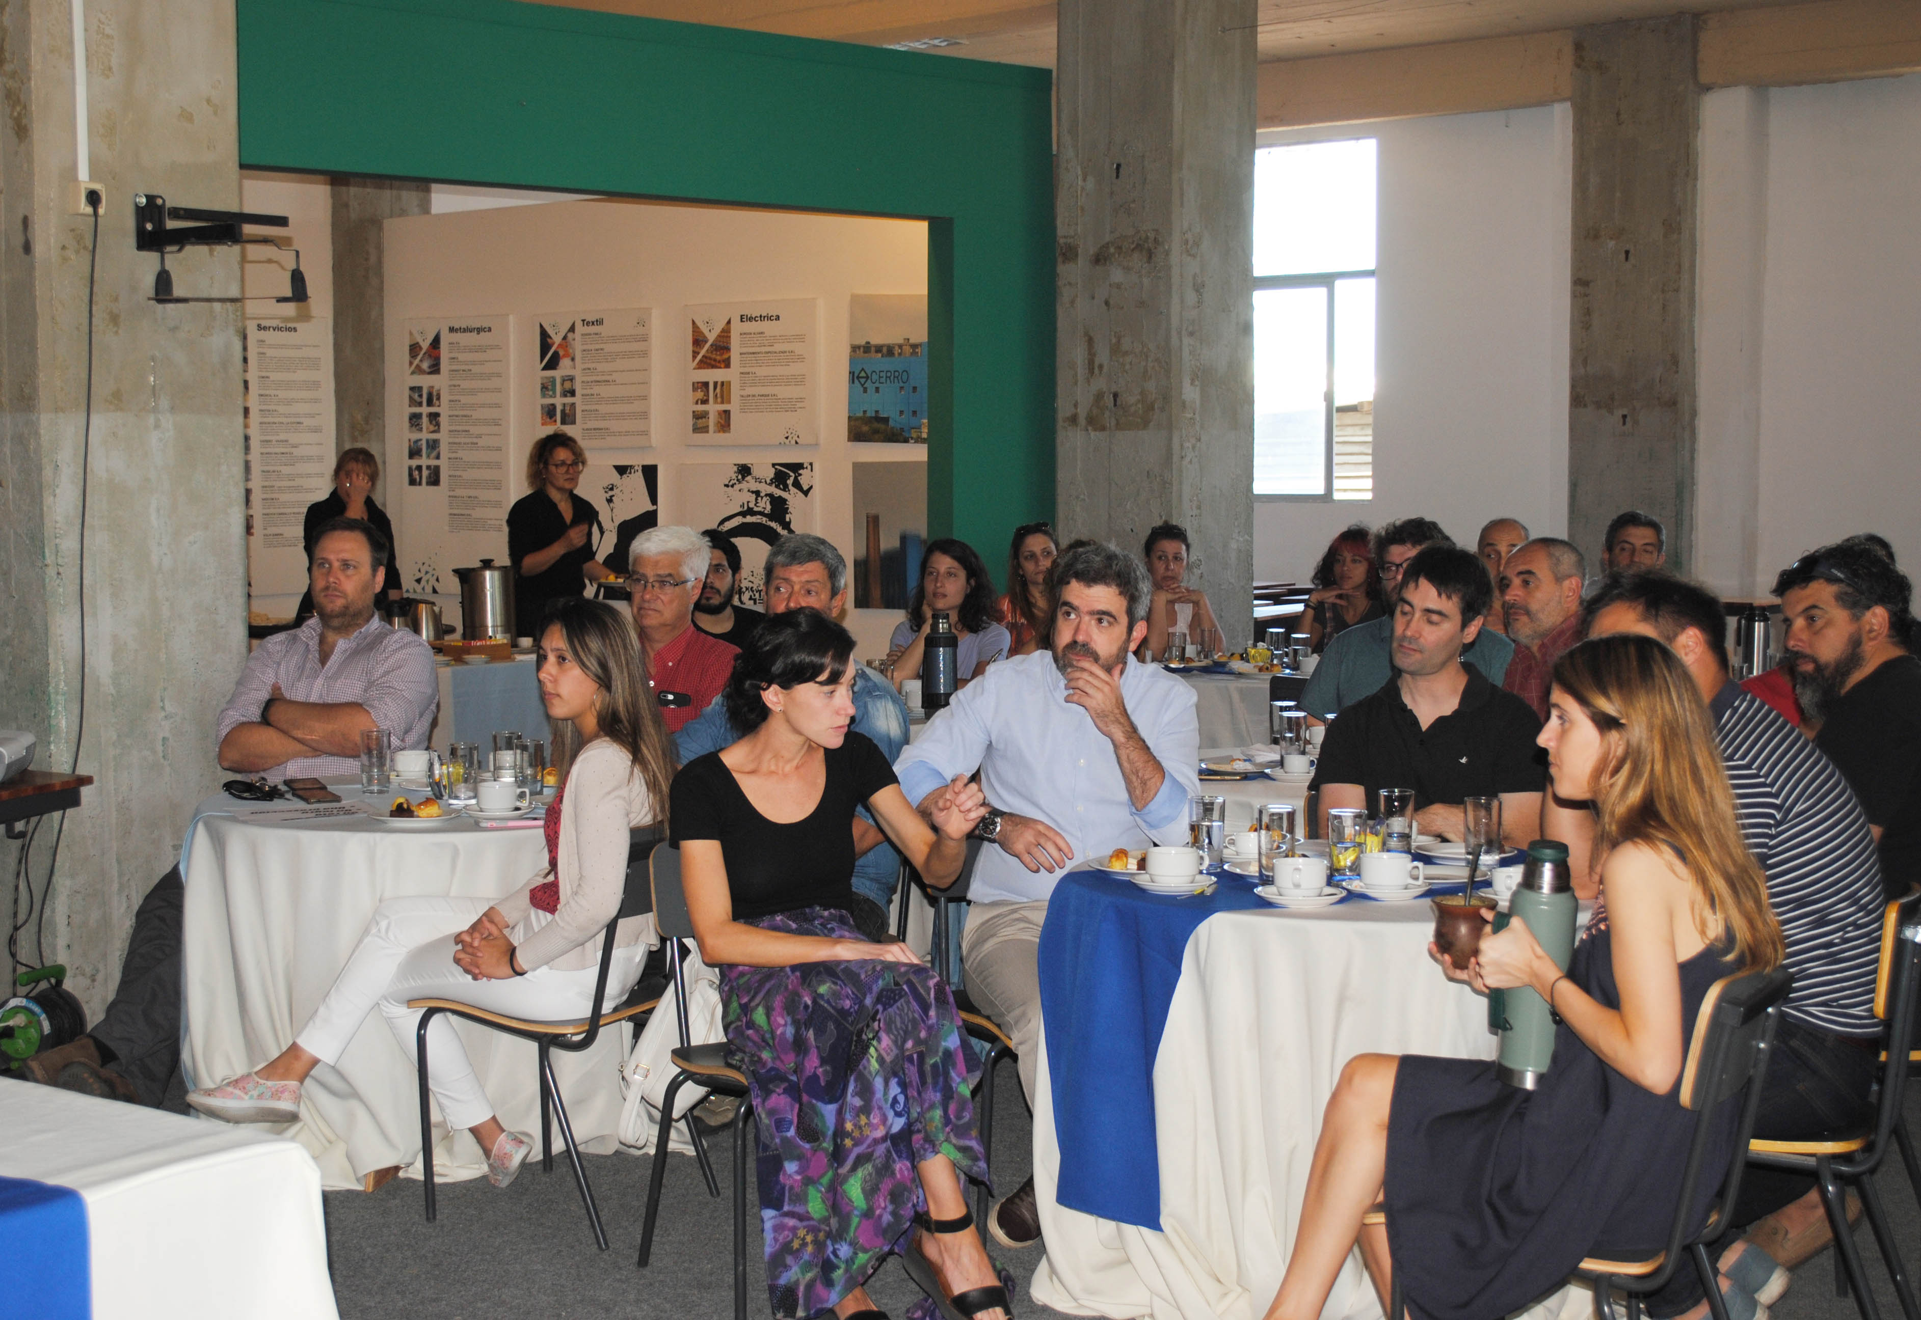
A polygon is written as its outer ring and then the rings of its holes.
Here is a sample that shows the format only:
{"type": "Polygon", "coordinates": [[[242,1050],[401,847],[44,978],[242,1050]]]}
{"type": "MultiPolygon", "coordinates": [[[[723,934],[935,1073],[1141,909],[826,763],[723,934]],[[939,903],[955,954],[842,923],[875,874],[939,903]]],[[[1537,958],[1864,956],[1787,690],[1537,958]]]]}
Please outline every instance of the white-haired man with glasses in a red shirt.
{"type": "Polygon", "coordinates": [[[693,528],[649,528],[634,537],[626,599],[647,658],[647,685],[661,704],[669,733],[726,687],[734,673],[736,647],[693,627],[693,597],[707,578],[713,547],[693,528]]]}

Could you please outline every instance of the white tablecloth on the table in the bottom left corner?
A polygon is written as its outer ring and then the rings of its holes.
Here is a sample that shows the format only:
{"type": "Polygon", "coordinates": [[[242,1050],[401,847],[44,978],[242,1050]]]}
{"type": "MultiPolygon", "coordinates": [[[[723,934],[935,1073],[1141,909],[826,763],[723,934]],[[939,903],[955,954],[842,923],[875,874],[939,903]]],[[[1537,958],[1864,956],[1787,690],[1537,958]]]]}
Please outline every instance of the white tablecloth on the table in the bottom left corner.
{"type": "Polygon", "coordinates": [[[0,1174],[86,1201],[96,1316],[336,1314],[321,1176],[292,1142],[27,1082],[0,1082],[0,1174]]]}

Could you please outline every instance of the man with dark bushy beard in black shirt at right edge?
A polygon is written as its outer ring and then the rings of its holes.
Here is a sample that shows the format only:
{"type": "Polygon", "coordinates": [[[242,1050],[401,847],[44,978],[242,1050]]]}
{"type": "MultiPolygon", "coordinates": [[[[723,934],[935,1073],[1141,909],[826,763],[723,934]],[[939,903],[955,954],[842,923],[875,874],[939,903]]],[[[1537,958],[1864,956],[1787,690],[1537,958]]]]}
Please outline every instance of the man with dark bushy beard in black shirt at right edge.
{"type": "Polygon", "coordinates": [[[1921,660],[1913,587],[1860,539],[1804,554],[1775,578],[1794,696],[1815,746],[1848,779],[1900,898],[1921,881],[1921,660]]]}

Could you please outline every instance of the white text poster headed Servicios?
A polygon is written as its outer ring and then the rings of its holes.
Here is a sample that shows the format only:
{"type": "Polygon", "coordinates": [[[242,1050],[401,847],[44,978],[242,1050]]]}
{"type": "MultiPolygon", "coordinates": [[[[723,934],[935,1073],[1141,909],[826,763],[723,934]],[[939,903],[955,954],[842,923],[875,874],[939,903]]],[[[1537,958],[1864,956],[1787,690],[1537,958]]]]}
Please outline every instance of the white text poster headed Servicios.
{"type": "MultiPolygon", "coordinates": [[[[254,595],[307,585],[307,505],[334,485],[334,340],[325,317],[246,322],[242,459],[254,595]]],[[[292,614],[292,610],[288,610],[292,614]]]]}

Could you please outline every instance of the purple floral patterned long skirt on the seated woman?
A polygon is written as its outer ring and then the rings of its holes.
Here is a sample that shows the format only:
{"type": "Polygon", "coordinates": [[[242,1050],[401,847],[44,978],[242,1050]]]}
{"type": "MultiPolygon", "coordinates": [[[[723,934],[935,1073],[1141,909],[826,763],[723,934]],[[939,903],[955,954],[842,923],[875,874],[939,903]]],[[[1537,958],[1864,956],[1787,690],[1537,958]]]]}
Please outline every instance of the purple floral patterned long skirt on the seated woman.
{"type": "MultiPolygon", "coordinates": [[[[843,911],[749,925],[859,940],[843,911]]],[[[866,1282],[924,1207],[936,1155],[987,1178],[980,1076],[953,994],[920,963],[720,967],[728,1053],[761,1119],[761,1226],[776,1316],[813,1316],[866,1282]]]]}

